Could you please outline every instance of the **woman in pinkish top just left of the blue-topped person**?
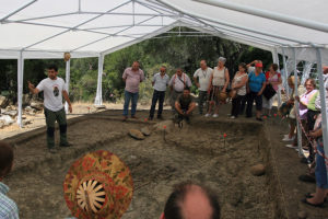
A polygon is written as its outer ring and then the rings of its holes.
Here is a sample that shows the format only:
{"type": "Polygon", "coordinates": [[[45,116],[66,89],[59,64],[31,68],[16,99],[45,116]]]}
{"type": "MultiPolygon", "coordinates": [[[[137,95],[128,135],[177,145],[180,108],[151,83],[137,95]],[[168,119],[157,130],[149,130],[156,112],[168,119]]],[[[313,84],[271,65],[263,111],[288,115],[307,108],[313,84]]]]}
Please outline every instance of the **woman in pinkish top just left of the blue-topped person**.
{"type": "Polygon", "coordinates": [[[246,83],[248,76],[246,73],[246,64],[242,62],[238,65],[238,71],[236,72],[232,81],[232,110],[231,118],[237,118],[241,112],[241,104],[246,99],[246,83]]]}

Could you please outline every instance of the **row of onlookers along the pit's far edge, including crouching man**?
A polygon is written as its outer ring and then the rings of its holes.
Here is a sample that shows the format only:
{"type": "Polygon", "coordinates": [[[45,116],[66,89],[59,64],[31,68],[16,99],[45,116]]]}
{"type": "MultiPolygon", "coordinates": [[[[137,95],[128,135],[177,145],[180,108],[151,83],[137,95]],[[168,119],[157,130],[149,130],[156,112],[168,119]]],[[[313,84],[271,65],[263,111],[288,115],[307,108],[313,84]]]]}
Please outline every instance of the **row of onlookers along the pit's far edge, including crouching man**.
{"type": "MultiPolygon", "coordinates": [[[[194,73],[194,82],[198,88],[198,108],[199,114],[206,117],[219,117],[220,105],[226,103],[230,95],[232,97],[231,118],[237,118],[246,107],[246,117],[253,117],[253,104],[256,103],[256,119],[262,120],[261,116],[270,116],[273,96],[265,97],[262,94],[266,87],[271,87],[273,92],[278,92],[281,84],[281,76],[278,65],[272,64],[268,72],[263,73],[262,62],[255,60],[248,65],[238,65],[238,71],[234,78],[230,79],[229,69],[225,67],[226,59],[220,57],[218,66],[213,69],[208,67],[206,60],[200,61],[200,68],[194,73]]],[[[127,68],[122,79],[126,81],[124,120],[128,118],[128,107],[131,100],[131,117],[136,118],[139,83],[144,80],[144,73],[139,68],[139,62],[134,61],[132,67],[127,68]]],[[[172,110],[177,113],[180,119],[189,120],[189,115],[196,104],[190,96],[191,80],[183,69],[176,69],[175,74],[169,79],[166,67],[162,66],[160,72],[152,79],[154,88],[152,105],[149,119],[152,120],[155,114],[155,106],[159,102],[157,118],[162,119],[163,105],[167,87],[169,88],[169,104],[172,110]],[[191,108],[191,111],[190,111],[191,108]]]]}

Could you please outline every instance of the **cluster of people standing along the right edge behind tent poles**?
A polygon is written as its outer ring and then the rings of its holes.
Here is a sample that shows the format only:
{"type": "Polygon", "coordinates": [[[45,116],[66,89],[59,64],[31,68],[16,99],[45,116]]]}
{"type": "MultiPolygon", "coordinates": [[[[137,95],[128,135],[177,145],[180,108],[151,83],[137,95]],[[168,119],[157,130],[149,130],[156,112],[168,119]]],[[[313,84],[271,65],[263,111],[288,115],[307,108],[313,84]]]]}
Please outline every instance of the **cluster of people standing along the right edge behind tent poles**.
{"type": "MultiPolygon", "coordinates": [[[[307,183],[316,183],[317,187],[315,193],[305,194],[303,203],[315,207],[321,207],[328,197],[328,160],[325,157],[324,151],[320,92],[316,89],[316,81],[314,79],[307,79],[304,84],[301,84],[298,77],[297,84],[295,81],[295,76],[289,77],[288,83],[292,89],[292,93],[289,96],[289,100],[280,107],[280,113],[289,118],[290,124],[290,131],[282,140],[292,142],[286,145],[288,148],[295,149],[296,151],[301,148],[301,150],[303,150],[302,154],[308,154],[307,157],[303,157],[301,162],[309,164],[309,171],[307,174],[301,175],[300,180],[307,183]],[[295,106],[296,102],[298,103],[298,108],[295,106]],[[302,146],[300,148],[297,147],[297,135],[295,135],[297,120],[302,139],[302,146]]],[[[327,107],[328,67],[324,67],[324,84],[327,107]]]]}

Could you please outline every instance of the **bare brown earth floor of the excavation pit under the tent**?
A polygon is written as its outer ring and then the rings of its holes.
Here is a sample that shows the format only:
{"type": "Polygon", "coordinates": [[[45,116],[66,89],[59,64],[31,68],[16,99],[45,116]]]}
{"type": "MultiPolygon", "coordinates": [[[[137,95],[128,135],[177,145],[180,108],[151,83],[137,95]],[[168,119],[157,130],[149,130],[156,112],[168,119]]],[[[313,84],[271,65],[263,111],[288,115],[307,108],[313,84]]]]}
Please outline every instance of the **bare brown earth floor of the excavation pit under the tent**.
{"type": "MultiPolygon", "coordinates": [[[[127,123],[120,122],[119,111],[75,117],[68,129],[73,147],[57,154],[46,150],[44,127],[13,136],[7,139],[15,145],[16,158],[4,182],[11,187],[9,196],[23,219],[70,217],[62,195],[70,164],[87,151],[105,149],[124,160],[132,173],[134,194],[124,219],[159,218],[172,186],[190,180],[218,194],[224,219],[297,218],[298,211],[312,219],[328,218],[327,209],[300,203],[315,184],[297,181],[306,165],[280,140],[286,124],[279,118],[262,124],[244,117],[231,120],[229,107],[222,108],[219,118],[195,115],[190,126],[169,126],[165,138],[157,130],[143,141],[130,138],[128,130],[159,123],[144,122],[148,112],[139,112],[138,120],[127,123]],[[266,175],[250,174],[249,168],[258,163],[267,166],[266,175]]],[[[169,118],[171,112],[164,116],[169,118]]]]}

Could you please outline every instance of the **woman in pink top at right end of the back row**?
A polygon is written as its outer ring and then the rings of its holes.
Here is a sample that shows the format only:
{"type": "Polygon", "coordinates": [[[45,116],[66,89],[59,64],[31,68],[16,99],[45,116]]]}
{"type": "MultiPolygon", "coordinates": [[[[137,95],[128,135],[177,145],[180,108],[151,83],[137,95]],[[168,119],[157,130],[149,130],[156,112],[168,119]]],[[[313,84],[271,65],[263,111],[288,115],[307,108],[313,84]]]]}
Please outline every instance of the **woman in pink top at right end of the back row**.
{"type": "MultiPolygon", "coordinates": [[[[279,84],[282,83],[281,76],[278,70],[278,65],[272,64],[270,66],[270,70],[266,73],[267,85],[271,84],[276,92],[278,92],[279,84]]],[[[262,107],[263,107],[263,115],[271,116],[271,108],[273,100],[276,99],[277,94],[272,96],[270,100],[267,100],[265,96],[262,97],[262,107]]]]}

